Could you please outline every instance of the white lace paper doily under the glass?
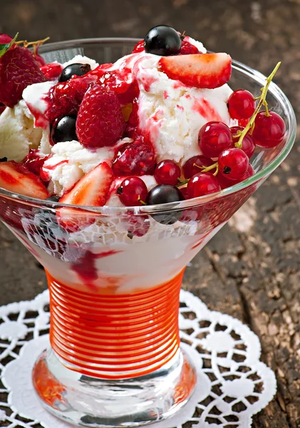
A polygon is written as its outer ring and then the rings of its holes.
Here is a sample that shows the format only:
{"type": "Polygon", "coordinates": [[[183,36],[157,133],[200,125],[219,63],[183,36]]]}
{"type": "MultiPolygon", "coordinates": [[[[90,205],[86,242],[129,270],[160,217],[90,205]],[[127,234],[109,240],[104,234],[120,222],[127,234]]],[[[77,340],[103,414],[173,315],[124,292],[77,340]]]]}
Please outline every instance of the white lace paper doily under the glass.
{"type": "MultiPolygon", "coordinates": [[[[48,291],[0,307],[0,426],[70,428],[43,409],[33,391],[33,363],[48,345],[48,291]]],[[[180,294],[182,346],[198,370],[195,393],[172,419],[153,428],[249,428],[276,392],[274,373],[259,361],[259,339],[229,315],[180,294]]]]}

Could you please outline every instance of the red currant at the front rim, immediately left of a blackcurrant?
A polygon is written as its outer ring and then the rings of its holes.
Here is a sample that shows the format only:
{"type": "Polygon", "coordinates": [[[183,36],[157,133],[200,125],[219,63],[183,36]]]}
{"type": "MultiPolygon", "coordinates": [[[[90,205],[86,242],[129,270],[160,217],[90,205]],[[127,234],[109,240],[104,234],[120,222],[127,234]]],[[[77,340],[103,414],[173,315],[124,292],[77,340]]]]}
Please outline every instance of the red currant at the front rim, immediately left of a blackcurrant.
{"type": "Polygon", "coordinates": [[[120,183],[117,189],[120,201],[127,207],[143,205],[148,190],[143,180],[139,177],[127,177],[120,183]],[[141,202],[142,201],[142,202],[141,202]]]}

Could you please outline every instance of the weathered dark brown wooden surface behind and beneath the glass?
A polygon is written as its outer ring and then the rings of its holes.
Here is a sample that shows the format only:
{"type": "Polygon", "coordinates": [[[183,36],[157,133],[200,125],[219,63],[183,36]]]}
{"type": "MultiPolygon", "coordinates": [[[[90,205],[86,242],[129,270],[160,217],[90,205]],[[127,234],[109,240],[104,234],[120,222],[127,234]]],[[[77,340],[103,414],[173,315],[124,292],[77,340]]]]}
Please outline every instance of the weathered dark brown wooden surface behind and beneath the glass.
{"type": "MultiPolygon", "coordinates": [[[[0,33],[52,41],[144,36],[170,24],[212,51],[269,73],[300,108],[299,0],[0,0],[0,33]],[[51,6],[52,4],[52,6],[51,6]]],[[[247,322],[276,372],[278,393],[254,428],[300,427],[300,153],[284,164],[187,267],[184,287],[214,310],[247,322]]],[[[46,287],[43,270],[0,225],[2,305],[46,287]]]]}

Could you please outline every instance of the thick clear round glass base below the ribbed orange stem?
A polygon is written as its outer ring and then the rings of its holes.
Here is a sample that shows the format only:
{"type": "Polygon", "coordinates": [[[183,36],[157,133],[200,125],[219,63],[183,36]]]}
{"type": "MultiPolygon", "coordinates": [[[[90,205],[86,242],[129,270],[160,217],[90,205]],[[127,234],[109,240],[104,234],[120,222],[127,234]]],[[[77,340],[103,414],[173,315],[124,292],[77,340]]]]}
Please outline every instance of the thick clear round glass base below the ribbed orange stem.
{"type": "Polygon", "coordinates": [[[187,403],[197,374],[181,350],[160,370],[143,377],[107,380],[68,369],[53,350],[33,368],[33,385],[56,417],[83,427],[140,427],[171,417],[187,403]]]}

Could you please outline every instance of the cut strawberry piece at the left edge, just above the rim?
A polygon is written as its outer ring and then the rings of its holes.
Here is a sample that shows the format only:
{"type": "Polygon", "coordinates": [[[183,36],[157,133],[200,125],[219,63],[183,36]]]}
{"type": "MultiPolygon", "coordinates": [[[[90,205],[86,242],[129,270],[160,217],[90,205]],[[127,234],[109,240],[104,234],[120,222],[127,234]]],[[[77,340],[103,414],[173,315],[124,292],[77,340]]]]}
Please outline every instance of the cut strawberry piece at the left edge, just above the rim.
{"type": "Polygon", "coordinates": [[[0,163],[0,188],[29,198],[46,199],[48,190],[41,180],[21,163],[15,161],[0,163]]]}

